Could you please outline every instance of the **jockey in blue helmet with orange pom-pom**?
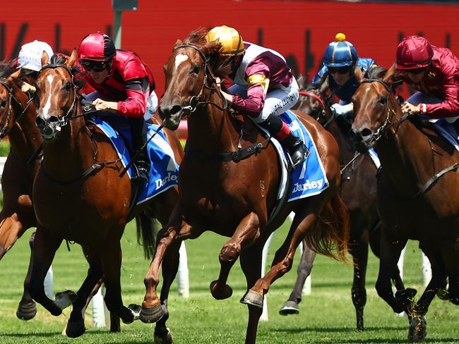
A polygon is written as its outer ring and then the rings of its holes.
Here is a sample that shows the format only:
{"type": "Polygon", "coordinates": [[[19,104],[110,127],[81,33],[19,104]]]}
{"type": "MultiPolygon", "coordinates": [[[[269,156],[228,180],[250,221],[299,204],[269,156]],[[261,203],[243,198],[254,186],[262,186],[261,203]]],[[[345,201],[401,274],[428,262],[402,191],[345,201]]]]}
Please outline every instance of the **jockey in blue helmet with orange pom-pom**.
{"type": "Polygon", "coordinates": [[[359,57],[354,45],[346,40],[343,33],[338,33],[335,40],[328,44],[323,55],[323,66],[312,79],[312,84],[321,85],[327,78],[331,92],[340,99],[339,103],[331,106],[332,111],[335,116],[348,118],[354,108],[352,96],[359,86],[354,75],[355,70],[360,68],[364,75],[373,67],[376,67],[373,59],[359,57]]]}

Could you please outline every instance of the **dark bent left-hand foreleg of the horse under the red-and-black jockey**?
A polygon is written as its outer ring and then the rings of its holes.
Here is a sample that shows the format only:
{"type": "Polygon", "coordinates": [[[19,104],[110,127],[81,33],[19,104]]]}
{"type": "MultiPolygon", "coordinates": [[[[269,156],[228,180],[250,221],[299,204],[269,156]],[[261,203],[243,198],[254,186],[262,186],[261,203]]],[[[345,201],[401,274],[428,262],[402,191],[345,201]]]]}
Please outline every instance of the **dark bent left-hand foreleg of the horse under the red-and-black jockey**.
{"type": "Polygon", "coordinates": [[[30,279],[26,278],[24,286],[32,298],[46,308],[52,315],[60,315],[62,308],[44,293],[44,277],[54,259],[56,250],[61,245],[62,238],[54,235],[41,226],[37,227],[33,243],[32,259],[30,261],[30,279]]]}

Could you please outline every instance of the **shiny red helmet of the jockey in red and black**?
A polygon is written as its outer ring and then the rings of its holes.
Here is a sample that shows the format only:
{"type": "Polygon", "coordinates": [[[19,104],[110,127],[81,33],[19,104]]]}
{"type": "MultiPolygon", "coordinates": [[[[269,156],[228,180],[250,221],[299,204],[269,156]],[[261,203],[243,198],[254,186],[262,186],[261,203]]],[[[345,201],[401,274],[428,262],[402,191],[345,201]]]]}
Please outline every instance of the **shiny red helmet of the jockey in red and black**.
{"type": "Polygon", "coordinates": [[[91,33],[83,38],[78,47],[80,60],[107,61],[117,54],[110,37],[102,32],[91,33]]]}

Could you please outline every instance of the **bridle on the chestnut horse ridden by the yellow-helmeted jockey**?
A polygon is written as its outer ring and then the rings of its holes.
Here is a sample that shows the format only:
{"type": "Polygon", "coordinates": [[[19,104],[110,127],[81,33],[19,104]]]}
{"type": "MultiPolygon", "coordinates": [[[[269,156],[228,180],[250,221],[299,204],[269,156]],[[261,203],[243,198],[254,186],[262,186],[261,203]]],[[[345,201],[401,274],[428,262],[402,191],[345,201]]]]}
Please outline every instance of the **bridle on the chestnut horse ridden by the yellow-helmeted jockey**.
{"type": "Polygon", "coordinates": [[[210,70],[210,67],[208,65],[208,62],[209,62],[208,56],[205,56],[204,52],[199,47],[196,47],[196,45],[193,45],[193,44],[181,44],[181,45],[175,47],[174,51],[177,50],[177,49],[180,49],[180,48],[194,49],[194,50],[198,51],[198,53],[201,55],[201,58],[203,59],[203,64],[202,64],[202,66],[203,66],[202,69],[204,71],[203,85],[201,86],[201,90],[199,91],[198,95],[197,96],[192,96],[190,101],[189,101],[189,104],[182,107],[182,109],[189,111],[188,115],[186,115],[186,116],[191,116],[191,113],[196,111],[196,109],[198,109],[198,106],[201,106],[201,105],[205,106],[207,104],[212,104],[212,105],[216,106],[217,109],[220,109],[220,110],[226,110],[228,108],[228,103],[227,103],[225,97],[223,97],[223,94],[221,94],[221,92],[218,92],[218,94],[219,94],[220,98],[222,99],[222,102],[224,104],[223,106],[220,106],[218,104],[210,102],[210,97],[212,96],[212,93],[215,90],[217,90],[217,87],[213,87],[213,84],[215,83],[215,75],[213,75],[213,72],[212,72],[212,70],[210,70]],[[211,79],[210,86],[207,85],[207,83],[208,83],[207,82],[208,74],[210,75],[210,79],[211,79]],[[205,99],[204,102],[201,102],[200,99],[201,99],[205,89],[210,90],[210,92],[208,94],[207,99],[205,99]]]}

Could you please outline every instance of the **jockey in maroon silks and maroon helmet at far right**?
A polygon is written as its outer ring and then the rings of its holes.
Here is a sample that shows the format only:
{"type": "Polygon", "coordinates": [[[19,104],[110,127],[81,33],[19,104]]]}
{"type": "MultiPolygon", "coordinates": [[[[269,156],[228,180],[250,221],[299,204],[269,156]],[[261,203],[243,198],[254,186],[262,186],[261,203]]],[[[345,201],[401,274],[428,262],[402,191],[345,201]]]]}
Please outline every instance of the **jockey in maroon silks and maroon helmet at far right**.
{"type": "Polygon", "coordinates": [[[405,37],[397,47],[395,68],[418,92],[402,104],[403,113],[445,118],[459,133],[459,59],[450,49],[432,46],[419,36],[405,37]]]}

